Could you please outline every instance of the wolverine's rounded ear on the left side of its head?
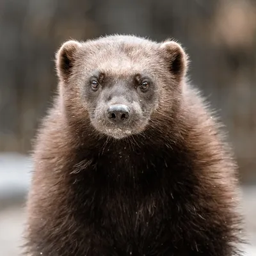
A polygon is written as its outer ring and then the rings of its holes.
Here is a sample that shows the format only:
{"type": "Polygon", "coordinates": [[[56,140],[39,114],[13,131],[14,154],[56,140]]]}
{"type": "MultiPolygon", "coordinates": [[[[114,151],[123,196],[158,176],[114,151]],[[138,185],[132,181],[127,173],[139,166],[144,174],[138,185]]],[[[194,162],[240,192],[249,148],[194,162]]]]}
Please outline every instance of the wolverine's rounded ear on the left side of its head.
{"type": "Polygon", "coordinates": [[[56,68],[61,79],[67,79],[70,76],[74,65],[74,55],[80,46],[79,42],[70,40],[65,42],[56,53],[56,68]]]}

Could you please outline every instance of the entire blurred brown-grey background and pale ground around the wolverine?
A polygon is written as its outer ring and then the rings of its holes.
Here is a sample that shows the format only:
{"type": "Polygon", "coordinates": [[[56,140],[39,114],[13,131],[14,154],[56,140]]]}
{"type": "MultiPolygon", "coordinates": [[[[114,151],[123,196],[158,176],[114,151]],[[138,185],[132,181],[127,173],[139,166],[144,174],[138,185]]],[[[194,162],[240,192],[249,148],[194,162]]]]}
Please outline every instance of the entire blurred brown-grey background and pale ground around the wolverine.
{"type": "Polygon", "coordinates": [[[113,33],[172,37],[186,48],[189,77],[218,110],[234,147],[246,255],[256,256],[255,0],[1,0],[0,255],[20,254],[28,156],[56,90],[55,52],[70,38],[113,33]]]}

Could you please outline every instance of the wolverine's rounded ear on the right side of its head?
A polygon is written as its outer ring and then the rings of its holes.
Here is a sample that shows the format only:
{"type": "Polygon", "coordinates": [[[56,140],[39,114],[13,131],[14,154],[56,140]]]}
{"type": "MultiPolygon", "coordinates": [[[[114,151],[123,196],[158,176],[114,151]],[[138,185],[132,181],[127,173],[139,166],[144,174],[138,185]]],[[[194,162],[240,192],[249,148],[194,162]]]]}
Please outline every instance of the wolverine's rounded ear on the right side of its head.
{"type": "Polygon", "coordinates": [[[160,46],[164,58],[168,61],[168,67],[173,76],[182,79],[188,68],[188,56],[182,47],[173,41],[164,42],[160,46]]]}

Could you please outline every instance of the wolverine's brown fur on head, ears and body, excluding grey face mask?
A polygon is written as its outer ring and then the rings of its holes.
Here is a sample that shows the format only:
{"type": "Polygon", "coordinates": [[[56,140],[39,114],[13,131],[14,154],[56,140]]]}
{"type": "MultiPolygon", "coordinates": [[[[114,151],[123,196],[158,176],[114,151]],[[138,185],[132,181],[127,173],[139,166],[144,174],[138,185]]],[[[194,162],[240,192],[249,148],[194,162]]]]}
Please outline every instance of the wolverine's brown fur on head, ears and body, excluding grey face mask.
{"type": "Polygon", "coordinates": [[[240,255],[236,164],[186,66],[179,45],[133,36],[61,47],[59,95],[33,155],[28,255],[240,255]],[[133,65],[118,65],[118,54],[133,65]],[[79,79],[99,63],[107,74],[143,69],[158,81],[140,132],[116,140],[91,124],[79,79]]]}

